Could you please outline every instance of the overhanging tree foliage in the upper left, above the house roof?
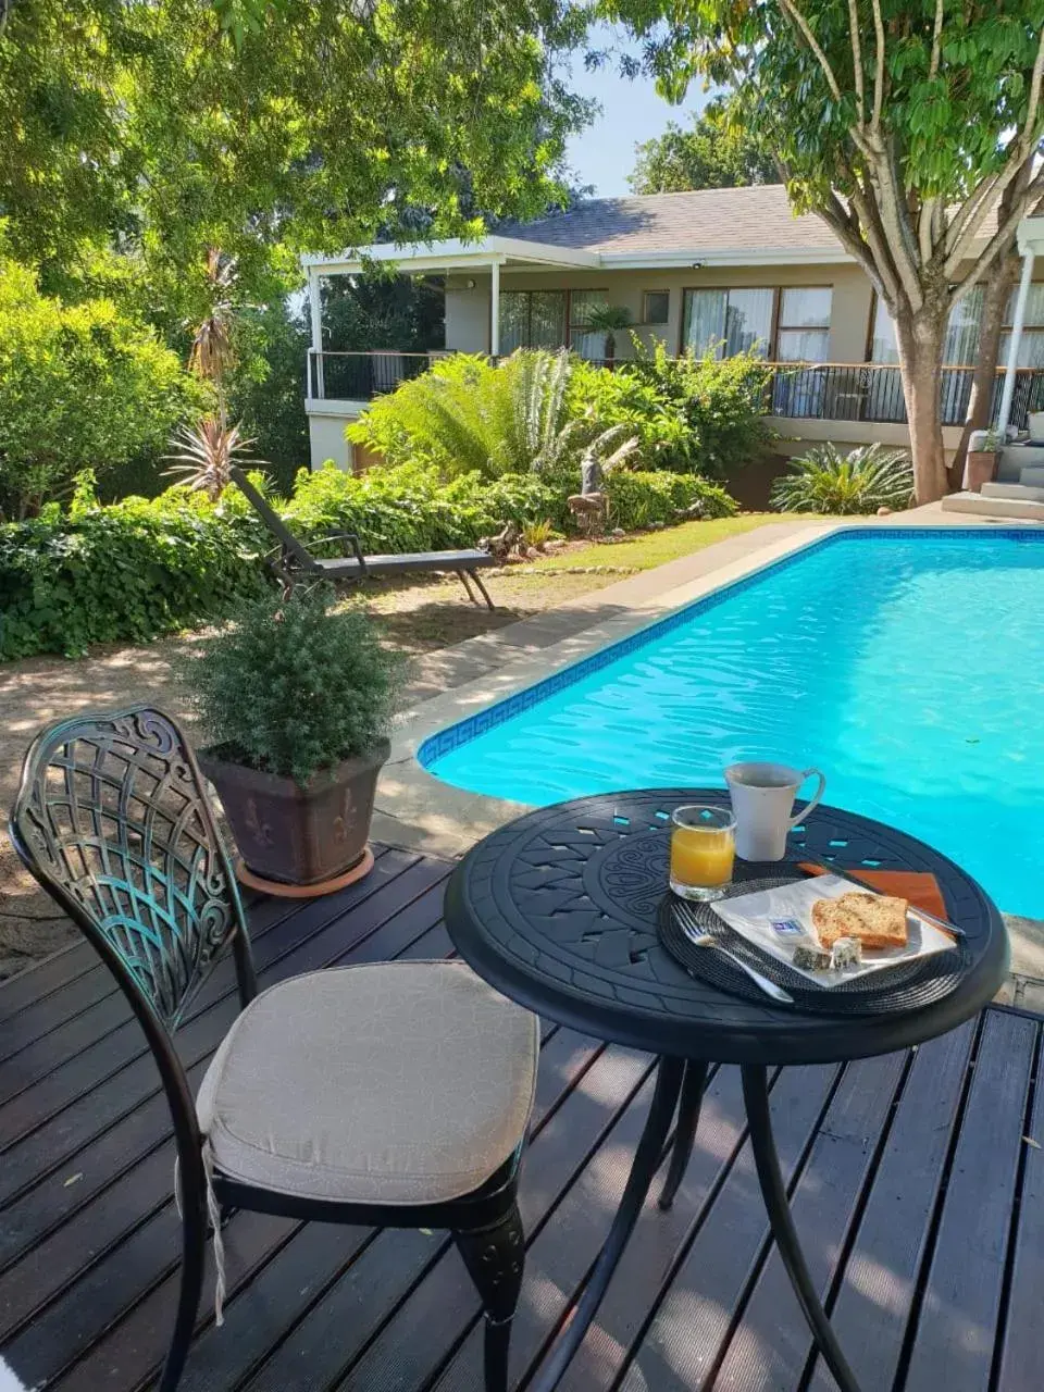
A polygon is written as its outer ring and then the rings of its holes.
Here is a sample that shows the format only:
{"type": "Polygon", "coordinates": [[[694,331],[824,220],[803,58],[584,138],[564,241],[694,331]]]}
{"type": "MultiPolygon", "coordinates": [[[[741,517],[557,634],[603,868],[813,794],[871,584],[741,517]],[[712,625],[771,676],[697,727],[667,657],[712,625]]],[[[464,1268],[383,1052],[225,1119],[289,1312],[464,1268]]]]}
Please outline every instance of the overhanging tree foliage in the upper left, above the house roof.
{"type": "Polygon", "coordinates": [[[32,0],[0,36],[0,210],[47,270],[139,255],[185,319],[207,246],[258,301],[299,251],[561,198],[576,0],[32,0]]]}

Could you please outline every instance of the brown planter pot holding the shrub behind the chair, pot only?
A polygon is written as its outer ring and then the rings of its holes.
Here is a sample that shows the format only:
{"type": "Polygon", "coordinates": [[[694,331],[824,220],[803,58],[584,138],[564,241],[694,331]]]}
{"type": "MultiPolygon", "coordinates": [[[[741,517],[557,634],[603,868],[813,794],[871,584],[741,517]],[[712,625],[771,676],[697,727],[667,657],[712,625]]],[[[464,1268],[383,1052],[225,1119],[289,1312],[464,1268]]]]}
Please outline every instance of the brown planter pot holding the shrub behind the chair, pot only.
{"type": "Polygon", "coordinates": [[[391,746],[313,774],[306,784],[227,763],[212,750],[199,767],[217,788],[246,869],[263,880],[319,884],[365,853],[377,775],[391,746]]]}

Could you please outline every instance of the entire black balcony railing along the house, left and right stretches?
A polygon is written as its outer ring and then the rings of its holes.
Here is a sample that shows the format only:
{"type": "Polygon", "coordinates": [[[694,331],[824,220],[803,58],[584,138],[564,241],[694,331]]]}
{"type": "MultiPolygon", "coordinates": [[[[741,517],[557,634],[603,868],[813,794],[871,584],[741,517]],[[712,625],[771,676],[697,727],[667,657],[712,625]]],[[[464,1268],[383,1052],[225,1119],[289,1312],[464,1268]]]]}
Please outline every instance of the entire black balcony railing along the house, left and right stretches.
{"type": "MultiPolygon", "coordinates": [[[[308,395],[317,401],[372,401],[409,377],[427,372],[426,352],[322,352],[308,355],[308,395]]],[[[606,366],[624,366],[619,358],[606,366]]],[[[906,425],[899,369],[887,363],[770,363],[768,415],[789,420],[862,420],[906,425]]],[[[1005,369],[997,372],[992,419],[1001,405],[1005,369]]],[[[963,425],[972,394],[972,367],[942,369],[942,425],[963,425]]],[[[1044,367],[1015,374],[1011,425],[1026,429],[1030,411],[1044,411],[1044,367]]]]}

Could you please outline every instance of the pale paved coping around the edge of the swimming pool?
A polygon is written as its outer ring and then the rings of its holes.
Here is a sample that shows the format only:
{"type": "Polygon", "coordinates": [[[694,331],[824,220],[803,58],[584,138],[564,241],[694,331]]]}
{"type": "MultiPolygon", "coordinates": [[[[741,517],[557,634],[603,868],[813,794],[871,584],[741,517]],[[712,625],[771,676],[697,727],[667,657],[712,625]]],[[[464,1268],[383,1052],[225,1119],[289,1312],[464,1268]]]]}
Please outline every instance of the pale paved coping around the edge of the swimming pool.
{"type": "MultiPolygon", "coordinates": [[[[944,514],[937,504],[901,515],[851,518],[844,522],[788,525],[781,516],[778,525],[766,523],[764,528],[728,537],[689,557],[596,592],[599,607],[615,608],[617,612],[589,628],[582,628],[569,638],[508,660],[504,665],[497,665],[482,677],[445,690],[408,713],[393,732],[391,757],[377,786],[374,838],[426,855],[457,857],[497,827],[532,810],[529,803],[468,792],[429,773],[418,760],[418,752],[440,731],[596,657],[606,649],[653,628],[675,611],[750,579],[780,561],[796,557],[827,537],[878,528],[913,526],[933,530],[991,528],[990,519],[965,521],[960,516],[958,522],[958,516],[960,515],[944,514]],[[766,537],[764,533],[770,529],[774,536],[766,537]],[[785,535],[781,536],[781,530],[785,535]],[[667,589],[663,587],[664,583],[667,589]]],[[[992,530],[998,530],[997,523],[992,523],[992,530]]],[[[1012,523],[1011,519],[1005,519],[999,530],[1040,530],[1040,526],[1012,523]]],[[[589,596],[583,599],[590,600],[589,596]]],[[[572,607],[578,607],[576,601],[572,607]]],[[[557,614],[560,610],[550,612],[557,614]]],[[[539,615],[514,626],[537,628],[541,619],[543,615],[539,615]]],[[[458,644],[458,650],[464,653],[470,644],[487,642],[487,638],[470,639],[458,644]]]]}

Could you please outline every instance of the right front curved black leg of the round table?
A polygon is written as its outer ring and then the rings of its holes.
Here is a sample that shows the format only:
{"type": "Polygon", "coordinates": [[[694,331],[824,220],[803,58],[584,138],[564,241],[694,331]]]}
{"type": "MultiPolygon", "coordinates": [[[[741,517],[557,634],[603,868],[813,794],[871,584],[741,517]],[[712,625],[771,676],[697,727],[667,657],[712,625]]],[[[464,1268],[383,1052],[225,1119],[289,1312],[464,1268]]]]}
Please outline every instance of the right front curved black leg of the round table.
{"type": "Polygon", "coordinates": [[[860,1392],[855,1374],[848,1366],[848,1360],[841,1352],[841,1345],[827,1318],[827,1311],[823,1308],[820,1297],[816,1293],[816,1286],[813,1285],[798,1240],[798,1231],[793,1226],[791,1205],[786,1201],[786,1186],[784,1185],[780,1157],[773,1139],[773,1122],[768,1112],[768,1083],[764,1068],[753,1063],[745,1065],[743,1102],[750,1126],[750,1146],[754,1151],[757,1180],[761,1186],[766,1208],[768,1210],[773,1236],[780,1249],[786,1274],[791,1278],[793,1293],[798,1296],[805,1318],[809,1321],[809,1328],[841,1392],[860,1392]]]}

